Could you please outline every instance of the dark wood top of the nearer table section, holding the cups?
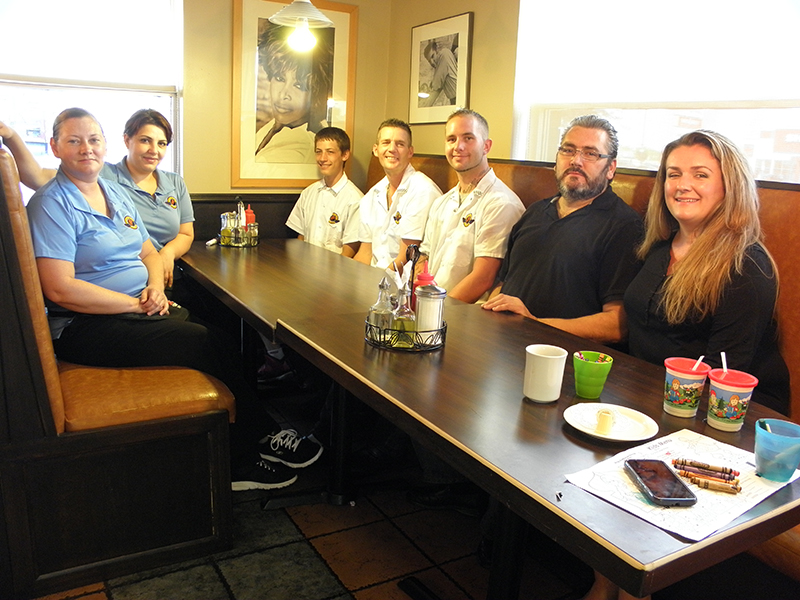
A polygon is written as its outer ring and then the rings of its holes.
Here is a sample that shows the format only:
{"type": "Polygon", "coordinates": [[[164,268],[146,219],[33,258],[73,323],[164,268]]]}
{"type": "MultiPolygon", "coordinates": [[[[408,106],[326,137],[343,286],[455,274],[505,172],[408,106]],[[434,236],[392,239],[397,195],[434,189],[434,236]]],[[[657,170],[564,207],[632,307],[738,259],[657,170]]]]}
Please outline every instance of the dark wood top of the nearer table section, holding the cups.
{"type": "Polygon", "coordinates": [[[661,589],[800,522],[800,481],[697,543],[567,484],[565,474],[643,442],[598,440],[564,421],[564,410],[583,401],[575,396],[571,358],[557,402],[525,400],[525,346],[554,344],[570,355],[576,350],[610,353],[614,366],[600,401],[649,415],[659,425],[658,437],[692,429],[752,451],[756,419],[779,416],[763,406],[751,405],[738,433],[707,426],[702,418],[705,403],[697,418],[670,416],[661,406],[663,367],[517,315],[491,313],[477,306],[448,306],[445,347],[426,353],[370,346],[363,341],[364,317],[361,311],[326,319],[282,318],[278,337],[517,514],[633,593],[661,589]],[[765,515],[769,519],[763,520],[765,515]]]}

